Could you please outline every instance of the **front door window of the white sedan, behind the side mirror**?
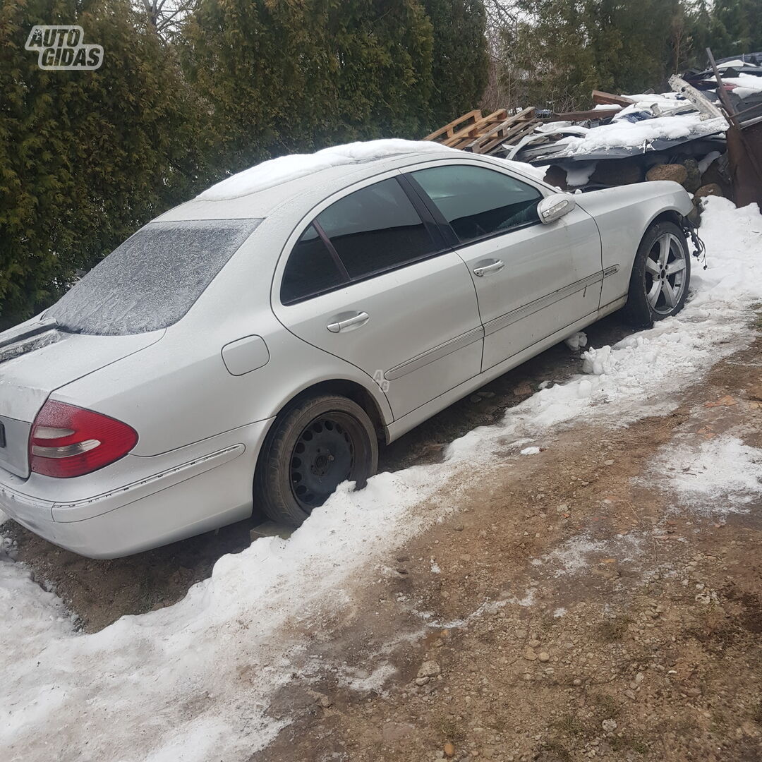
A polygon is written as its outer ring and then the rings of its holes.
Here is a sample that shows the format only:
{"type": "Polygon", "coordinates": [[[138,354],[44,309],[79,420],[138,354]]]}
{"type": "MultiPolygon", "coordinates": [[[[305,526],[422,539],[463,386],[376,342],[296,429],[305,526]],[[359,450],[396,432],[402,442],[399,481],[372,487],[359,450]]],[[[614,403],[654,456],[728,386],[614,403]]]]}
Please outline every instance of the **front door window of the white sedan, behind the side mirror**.
{"type": "Polygon", "coordinates": [[[539,223],[542,194],[508,174],[469,165],[431,167],[413,178],[453,228],[459,242],[539,223]]]}

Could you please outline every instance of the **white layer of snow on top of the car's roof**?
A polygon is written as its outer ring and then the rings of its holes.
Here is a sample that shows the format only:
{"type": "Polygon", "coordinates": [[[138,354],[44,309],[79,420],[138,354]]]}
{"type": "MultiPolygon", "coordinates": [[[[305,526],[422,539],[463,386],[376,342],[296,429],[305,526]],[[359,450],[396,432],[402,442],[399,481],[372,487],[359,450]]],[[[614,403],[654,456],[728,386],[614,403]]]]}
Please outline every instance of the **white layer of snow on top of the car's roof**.
{"type": "Polygon", "coordinates": [[[368,140],[331,146],[315,153],[294,153],[271,158],[267,162],[245,169],[220,181],[199,194],[200,201],[221,201],[245,196],[257,191],[306,177],[323,169],[341,165],[370,162],[418,151],[454,151],[440,143],[428,140],[368,140]]]}

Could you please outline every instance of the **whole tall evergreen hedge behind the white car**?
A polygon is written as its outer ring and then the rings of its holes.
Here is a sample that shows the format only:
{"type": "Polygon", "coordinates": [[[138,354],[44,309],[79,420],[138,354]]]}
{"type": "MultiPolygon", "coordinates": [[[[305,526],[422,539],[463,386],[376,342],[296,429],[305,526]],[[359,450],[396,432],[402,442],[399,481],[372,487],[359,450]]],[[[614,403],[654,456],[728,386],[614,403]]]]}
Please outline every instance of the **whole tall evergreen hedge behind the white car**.
{"type": "Polygon", "coordinates": [[[0,328],[152,217],[274,155],[420,138],[479,104],[482,0],[200,0],[171,43],[129,0],[0,5],[0,328]],[[79,24],[96,71],[43,71],[79,24]]]}

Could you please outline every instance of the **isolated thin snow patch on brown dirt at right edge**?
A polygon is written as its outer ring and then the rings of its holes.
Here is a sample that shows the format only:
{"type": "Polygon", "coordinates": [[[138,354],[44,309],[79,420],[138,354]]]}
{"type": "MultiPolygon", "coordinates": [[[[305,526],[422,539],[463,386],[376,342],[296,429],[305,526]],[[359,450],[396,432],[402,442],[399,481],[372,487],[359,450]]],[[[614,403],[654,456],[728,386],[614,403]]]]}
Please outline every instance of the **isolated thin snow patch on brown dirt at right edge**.
{"type": "Polygon", "coordinates": [[[729,435],[697,444],[693,435],[664,448],[648,479],[677,493],[694,511],[742,513],[762,499],[762,450],[729,435]]]}

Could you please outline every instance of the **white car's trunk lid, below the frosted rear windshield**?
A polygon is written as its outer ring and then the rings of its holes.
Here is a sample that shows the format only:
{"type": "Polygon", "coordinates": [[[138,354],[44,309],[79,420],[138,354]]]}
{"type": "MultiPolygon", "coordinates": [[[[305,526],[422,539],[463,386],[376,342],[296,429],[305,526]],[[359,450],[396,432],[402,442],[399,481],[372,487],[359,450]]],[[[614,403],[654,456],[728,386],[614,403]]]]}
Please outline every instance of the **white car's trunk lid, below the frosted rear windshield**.
{"type": "Polygon", "coordinates": [[[164,333],[72,334],[54,324],[41,329],[34,319],[0,334],[0,468],[27,478],[31,425],[54,389],[155,344],[164,333]]]}

